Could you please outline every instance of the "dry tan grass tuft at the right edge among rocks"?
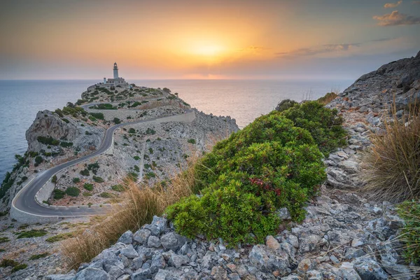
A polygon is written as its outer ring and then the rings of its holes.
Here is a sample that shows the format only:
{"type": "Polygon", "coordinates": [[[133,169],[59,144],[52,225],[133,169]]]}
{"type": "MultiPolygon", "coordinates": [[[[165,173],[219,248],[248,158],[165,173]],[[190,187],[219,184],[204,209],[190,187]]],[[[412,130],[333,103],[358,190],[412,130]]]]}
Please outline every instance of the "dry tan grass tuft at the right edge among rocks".
{"type": "Polygon", "coordinates": [[[374,200],[420,198],[420,116],[414,113],[416,106],[402,120],[395,111],[394,106],[384,122],[385,132],[372,137],[372,149],[363,160],[363,193],[374,200]]]}

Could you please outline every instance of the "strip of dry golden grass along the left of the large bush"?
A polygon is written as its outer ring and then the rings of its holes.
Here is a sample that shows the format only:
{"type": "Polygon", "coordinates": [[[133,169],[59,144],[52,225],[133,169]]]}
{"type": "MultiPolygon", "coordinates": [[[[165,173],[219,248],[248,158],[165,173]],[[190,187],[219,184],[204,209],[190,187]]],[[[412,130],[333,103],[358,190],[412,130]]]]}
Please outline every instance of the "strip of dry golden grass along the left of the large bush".
{"type": "Polygon", "coordinates": [[[62,242],[62,255],[66,267],[77,269],[80,263],[90,262],[105,248],[114,244],[127,230],[138,230],[141,225],[150,223],[153,216],[161,215],[169,205],[193,194],[197,160],[198,157],[193,153],[193,156],[188,158],[184,172],[165,184],[156,183],[152,188],[127,181],[122,206],[116,207],[108,218],[93,228],[62,242]]]}

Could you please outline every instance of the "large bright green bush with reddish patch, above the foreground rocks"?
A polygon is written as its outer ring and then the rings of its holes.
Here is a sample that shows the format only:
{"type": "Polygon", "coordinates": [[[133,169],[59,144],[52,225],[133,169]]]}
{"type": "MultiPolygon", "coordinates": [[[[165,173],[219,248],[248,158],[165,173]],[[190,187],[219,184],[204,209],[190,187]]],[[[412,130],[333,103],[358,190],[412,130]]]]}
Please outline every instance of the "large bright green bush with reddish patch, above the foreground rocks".
{"type": "Polygon", "coordinates": [[[168,207],[168,217],[188,237],[262,242],[279,226],[276,209],[287,207],[302,221],[304,205],[325,179],[322,157],[307,130],[273,111],[204,155],[196,165],[202,197],[168,207]]]}

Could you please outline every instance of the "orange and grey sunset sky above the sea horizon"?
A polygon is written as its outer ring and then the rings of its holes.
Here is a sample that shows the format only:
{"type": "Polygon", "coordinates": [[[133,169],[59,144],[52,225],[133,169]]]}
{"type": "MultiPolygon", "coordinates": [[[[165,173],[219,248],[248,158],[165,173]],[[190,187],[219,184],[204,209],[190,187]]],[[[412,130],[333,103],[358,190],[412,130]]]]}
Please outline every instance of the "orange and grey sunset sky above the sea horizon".
{"type": "Polygon", "coordinates": [[[420,1],[2,0],[0,79],[358,78],[420,50],[420,1]]]}

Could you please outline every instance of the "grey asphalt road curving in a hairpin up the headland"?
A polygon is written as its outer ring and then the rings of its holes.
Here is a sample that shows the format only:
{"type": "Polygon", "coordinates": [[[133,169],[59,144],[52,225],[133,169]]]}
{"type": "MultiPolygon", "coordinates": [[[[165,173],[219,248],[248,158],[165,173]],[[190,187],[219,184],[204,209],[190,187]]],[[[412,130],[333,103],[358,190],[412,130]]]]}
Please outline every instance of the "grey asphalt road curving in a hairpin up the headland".
{"type": "MultiPolygon", "coordinates": [[[[186,111],[186,113],[190,113],[190,112],[193,112],[193,110],[189,109],[186,111]]],[[[160,117],[160,118],[167,118],[167,116],[160,117]]],[[[113,141],[113,133],[119,127],[123,127],[125,125],[137,125],[139,123],[149,123],[155,120],[159,120],[160,118],[138,120],[136,122],[131,122],[131,123],[120,123],[118,125],[113,125],[112,127],[109,127],[109,129],[106,130],[104,141],[102,142],[102,145],[99,147],[99,149],[97,149],[97,151],[94,151],[94,153],[91,153],[90,155],[85,155],[82,158],[71,160],[69,162],[64,162],[61,165],[51,167],[50,169],[47,169],[44,172],[41,172],[40,174],[38,174],[38,176],[36,176],[33,180],[29,181],[29,183],[27,183],[27,185],[24,188],[22,188],[22,190],[13,199],[12,203],[14,204],[14,207],[20,211],[24,211],[29,214],[34,214],[38,216],[58,216],[59,218],[75,217],[75,216],[92,216],[92,215],[104,214],[104,212],[106,212],[104,208],[99,208],[99,209],[98,208],[74,208],[74,209],[46,208],[46,207],[41,206],[41,204],[38,204],[38,202],[36,202],[35,195],[36,193],[38,193],[38,190],[40,190],[43,187],[43,185],[47,183],[48,180],[50,180],[50,178],[57,172],[61,171],[64,168],[71,167],[72,165],[76,165],[80,162],[84,162],[85,160],[88,160],[90,158],[93,158],[94,156],[97,156],[106,152],[111,147],[111,144],[113,141]]]]}

